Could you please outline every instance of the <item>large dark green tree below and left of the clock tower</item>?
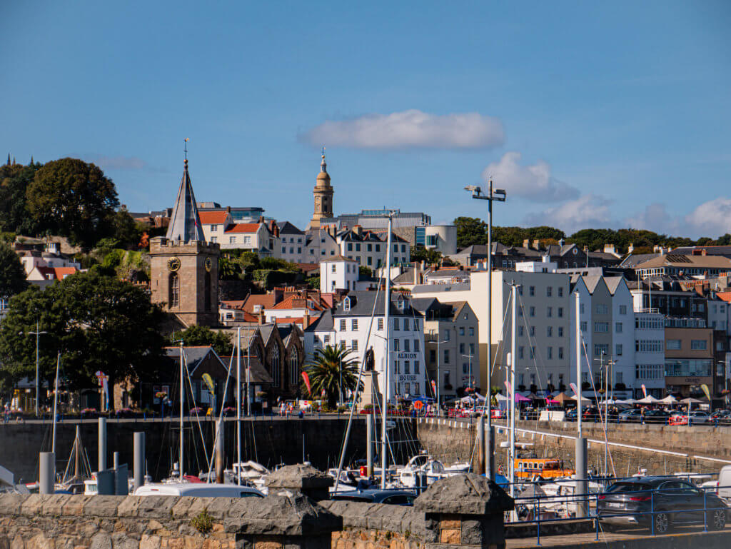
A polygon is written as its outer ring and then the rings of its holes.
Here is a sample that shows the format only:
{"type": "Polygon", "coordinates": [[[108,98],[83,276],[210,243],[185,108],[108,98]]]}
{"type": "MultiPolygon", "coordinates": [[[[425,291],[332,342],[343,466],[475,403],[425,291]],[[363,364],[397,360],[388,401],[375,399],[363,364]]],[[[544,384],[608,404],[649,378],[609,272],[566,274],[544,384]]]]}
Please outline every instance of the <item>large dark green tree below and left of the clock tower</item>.
{"type": "Polygon", "coordinates": [[[35,341],[20,333],[35,330],[36,320],[48,331],[39,358],[49,382],[56,352],[74,387],[94,386],[96,371],[107,374],[112,386],[127,378],[150,379],[162,365],[162,311],[143,289],[97,268],[43,291],[31,287],[10,300],[0,330],[0,360],[15,379],[34,371],[35,341]]]}

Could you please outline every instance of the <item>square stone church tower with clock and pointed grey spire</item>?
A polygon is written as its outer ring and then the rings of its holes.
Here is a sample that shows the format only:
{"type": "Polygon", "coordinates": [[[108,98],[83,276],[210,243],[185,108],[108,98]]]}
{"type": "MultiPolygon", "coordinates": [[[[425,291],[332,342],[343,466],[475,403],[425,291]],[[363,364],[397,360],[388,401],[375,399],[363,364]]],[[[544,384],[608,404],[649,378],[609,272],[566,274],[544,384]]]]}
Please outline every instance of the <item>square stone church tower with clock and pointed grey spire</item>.
{"type": "Polygon", "coordinates": [[[186,158],[167,234],[150,240],[152,301],[184,326],[216,325],[220,254],[205,242],[186,158]]]}

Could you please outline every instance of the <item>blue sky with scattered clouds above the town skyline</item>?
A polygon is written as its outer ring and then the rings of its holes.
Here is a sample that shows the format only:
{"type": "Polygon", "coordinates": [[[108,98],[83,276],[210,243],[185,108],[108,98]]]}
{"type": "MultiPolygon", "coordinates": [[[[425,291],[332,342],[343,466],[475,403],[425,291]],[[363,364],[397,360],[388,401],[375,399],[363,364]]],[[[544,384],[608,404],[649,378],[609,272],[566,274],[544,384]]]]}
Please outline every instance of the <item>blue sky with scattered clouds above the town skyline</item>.
{"type": "Polygon", "coordinates": [[[3,2],[0,152],[94,160],[133,211],[731,232],[731,3],[3,2]]]}

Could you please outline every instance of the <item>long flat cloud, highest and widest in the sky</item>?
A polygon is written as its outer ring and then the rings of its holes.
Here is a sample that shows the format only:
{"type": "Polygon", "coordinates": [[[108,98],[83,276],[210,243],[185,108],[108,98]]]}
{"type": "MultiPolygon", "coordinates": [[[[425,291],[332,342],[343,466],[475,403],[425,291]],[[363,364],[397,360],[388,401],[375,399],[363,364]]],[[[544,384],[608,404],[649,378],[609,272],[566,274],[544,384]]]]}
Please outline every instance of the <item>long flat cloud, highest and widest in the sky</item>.
{"type": "Polygon", "coordinates": [[[498,118],[480,113],[435,115],[410,109],[325,121],[299,136],[312,145],[350,148],[485,149],[505,141],[498,118]]]}

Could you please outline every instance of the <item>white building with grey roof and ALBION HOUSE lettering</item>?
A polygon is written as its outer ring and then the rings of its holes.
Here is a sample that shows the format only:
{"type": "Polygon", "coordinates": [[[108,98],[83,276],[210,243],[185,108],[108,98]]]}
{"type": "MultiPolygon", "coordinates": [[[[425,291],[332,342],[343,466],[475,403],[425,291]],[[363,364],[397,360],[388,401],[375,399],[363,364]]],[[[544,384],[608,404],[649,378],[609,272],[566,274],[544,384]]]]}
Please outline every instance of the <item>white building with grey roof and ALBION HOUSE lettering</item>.
{"type": "MultiPolygon", "coordinates": [[[[360,365],[368,349],[373,349],[374,369],[379,373],[379,387],[383,387],[386,363],[384,312],[385,298],[382,292],[350,292],[335,310],[328,309],[305,330],[308,359],[313,357],[317,348],[342,345],[352,352],[349,358],[357,359],[360,365]],[[374,310],[376,316],[368,336],[374,310]]],[[[389,398],[394,395],[431,395],[431,388],[427,387],[424,360],[422,314],[412,308],[408,297],[399,292],[391,295],[389,314],[389,398]]]]}

